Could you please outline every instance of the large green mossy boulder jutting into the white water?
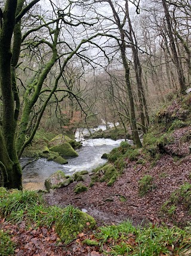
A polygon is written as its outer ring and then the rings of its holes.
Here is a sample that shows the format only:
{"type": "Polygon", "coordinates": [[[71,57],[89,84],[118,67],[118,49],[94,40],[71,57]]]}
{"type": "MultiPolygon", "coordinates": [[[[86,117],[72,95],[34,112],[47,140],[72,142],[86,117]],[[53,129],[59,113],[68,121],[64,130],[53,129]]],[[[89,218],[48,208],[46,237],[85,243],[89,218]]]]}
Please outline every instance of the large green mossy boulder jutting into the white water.
{"type": "Polygon", "coordinates": [[[78,156],[78,153],[73,149],[69,143],[62,143],[50,148],[53,152],[58,152],[63,157],[73,157],[78,156]]]}

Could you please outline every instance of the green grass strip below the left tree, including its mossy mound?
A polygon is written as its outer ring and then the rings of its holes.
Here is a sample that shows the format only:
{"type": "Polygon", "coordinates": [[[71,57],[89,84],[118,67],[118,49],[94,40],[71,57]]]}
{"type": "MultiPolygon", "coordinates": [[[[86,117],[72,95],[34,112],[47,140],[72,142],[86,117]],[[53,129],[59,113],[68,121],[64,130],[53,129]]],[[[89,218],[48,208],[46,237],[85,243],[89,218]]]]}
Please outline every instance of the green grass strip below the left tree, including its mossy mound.
{"type": "MultiPolygon", "coordinates": [[[[55,224],[58,235],[66,243],[74,239],[82,230],[90,230],[96,225],[94,218],[87,213],[73,206],[67,206],[64,209],[57,206],[48,207],[41,195],[27,190],[7,191],[5,188],[0,188],[0,215],[11,223],[20,223],[24,220],[29,227],[35,224],[36,227],[44,225],[50,228],[55,224]]],[[[0,233],[0,236],[3,237],[4,233],[0,233]]],[[[5,242],[0,245],[3,246],[5,242]]],[[[10,243],[8,237],[7,243],[10,243]]]]}

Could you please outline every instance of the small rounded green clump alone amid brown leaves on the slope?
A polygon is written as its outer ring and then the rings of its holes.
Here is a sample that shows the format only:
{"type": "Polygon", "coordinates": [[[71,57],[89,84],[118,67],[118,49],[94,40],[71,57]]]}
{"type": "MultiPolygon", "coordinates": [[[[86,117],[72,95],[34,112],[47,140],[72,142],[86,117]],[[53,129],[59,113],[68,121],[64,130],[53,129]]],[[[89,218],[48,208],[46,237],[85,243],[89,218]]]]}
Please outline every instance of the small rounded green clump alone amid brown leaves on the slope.
{"type": "Polygon", "coordinates": [[[153,177],[150,175],[145,175],[138,181],[138,193],[141,197],[152,191],[153,188],[155,188],[155,184],[153,184],[153,177]]]}

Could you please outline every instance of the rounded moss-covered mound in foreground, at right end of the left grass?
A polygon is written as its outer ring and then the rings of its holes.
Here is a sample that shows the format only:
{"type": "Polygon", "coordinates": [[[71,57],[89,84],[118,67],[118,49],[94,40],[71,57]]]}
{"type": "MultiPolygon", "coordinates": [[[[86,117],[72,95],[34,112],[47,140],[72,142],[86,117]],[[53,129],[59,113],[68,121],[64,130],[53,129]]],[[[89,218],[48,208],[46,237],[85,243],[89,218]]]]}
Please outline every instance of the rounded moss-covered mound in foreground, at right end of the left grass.
{"type": "Polygon", "coordinates": [[[96,225],[95,219],[73,206],[67,206],[56,221],[56,232],[64,244],[70,243],[82,231],[88,231],[96,225]]]}

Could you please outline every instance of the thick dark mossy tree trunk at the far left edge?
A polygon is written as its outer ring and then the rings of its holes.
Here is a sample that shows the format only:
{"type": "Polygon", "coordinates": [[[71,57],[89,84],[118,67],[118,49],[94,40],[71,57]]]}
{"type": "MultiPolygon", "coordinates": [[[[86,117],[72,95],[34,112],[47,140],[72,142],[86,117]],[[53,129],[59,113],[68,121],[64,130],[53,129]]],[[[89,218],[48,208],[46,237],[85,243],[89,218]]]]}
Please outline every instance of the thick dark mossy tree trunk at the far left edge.
{"type": "Polygon", "coordinates": [[[17,1],[6,1],[0,32],[0,83],[3,103],[0,127],[0,170],[4,176],[2,183],[5,186],[20,189],[22,186],[21,167],[15,146],[17,109],[14,104],[14,86],[11,76],[11,59],[13,56],[11,39],[16,24],[16,8],[17,1]]]}

